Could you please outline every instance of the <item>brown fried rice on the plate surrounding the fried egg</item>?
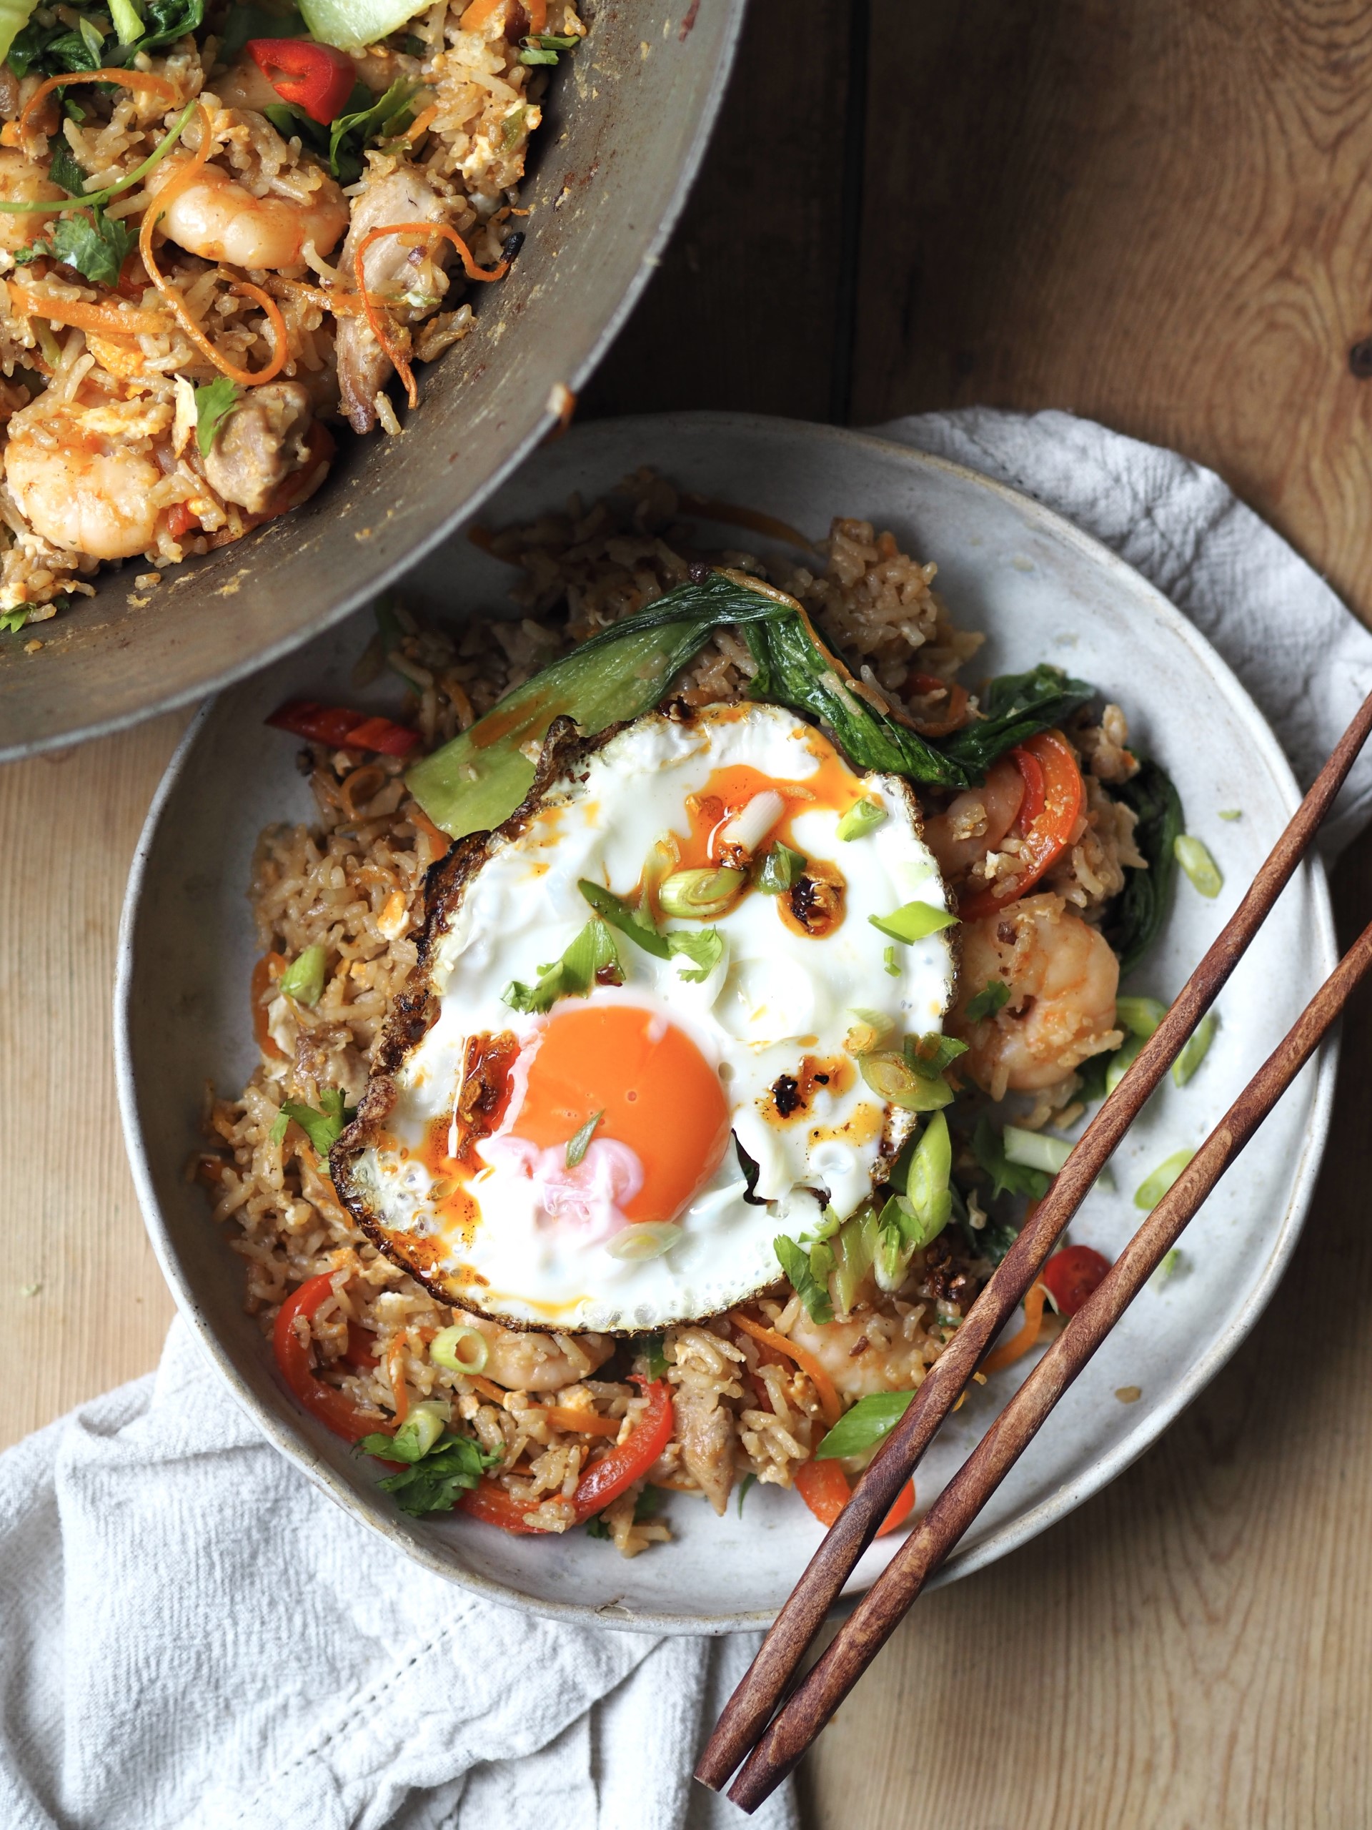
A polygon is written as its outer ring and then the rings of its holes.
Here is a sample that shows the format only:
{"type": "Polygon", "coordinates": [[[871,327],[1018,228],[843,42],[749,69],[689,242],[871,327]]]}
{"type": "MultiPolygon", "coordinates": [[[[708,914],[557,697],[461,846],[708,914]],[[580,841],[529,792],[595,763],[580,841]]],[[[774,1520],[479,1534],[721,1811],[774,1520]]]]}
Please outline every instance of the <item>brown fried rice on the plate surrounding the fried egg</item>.
{"type": "MultiPolygon", "coordinates": [[[[651,472],[626,479],[613,498],[573,500],[560,514],[505,529],[490,536],[490,549],[518,567],[516,619],[432,628],[393,602],[355,668],[357,684],[382,668],[404,677],[408,717],[426,748],[470,727],[567,646],[682,582],[704,551],[701,523],[684,514],[675,487],[651,472]]],[[[933,589],[935,567],[902,553],[889,533],[836,520],[805,565],[763,565],[737,551],[712,556],[794,593],[829,639],[862,657],[873,695],[898,705],[916,727],[942,732],[977,717],[977,699],[957,672],[981,637],[953,628],[933,589]]],[[[673,695],[697,705],[739,697],[750,675],[746,646],[724,630],[673,695]]],[[[1088,920],[1136,856],[1132,814],[1109,794],[1110,780],[1131,770],[1125,737],[1118,706],[1099,725],[1081,717],[1072,730],[1088,807],[1076,845],[1054,869],[1052,893],[1088,920]]],[[[262,1061],[238,1096],[207,1096],[209,1147],[192,1164],[245,1261],[247,1308],[263,1332],[293,1290],[327,1276],[327,1299],[313,1318],[293,1321],[320,1376],[393,1420],[428,1398],[448,1404],[499,1455],[492,1477],[525,1523],[543,1530],[574,1521],[573,1493],[587,1459],[607,1442],[624,1442],[642,1416],[648,1398],[633,1376],[648,1380],[655,1363],[659,1376],[666,1367],[671,1440],[646,1480],[600,1515],[600,1534],[624,1556],[670,1537],[651,1510],[651,1490],[702,1495],[723,1512],[746,1477],[790,1488],[836,1405],[847,1407],[863,1389],[915,1389],[991,1268],[970,1243],[986,1224],[975,1193],[968,1228],[916,1252],[900,1290],[854,1303],[827,1329],[809,1319],[779,1279],[741,1310],[670,1327],[660,1340],[615,1343],[488,1327],[492,1351],[481,1374],[434,1362],[435,1336],[472,1318],[437,1301],[357,1230],[337,1200],[327,1162],[298,1124],[285,1124],[282,1102],[320,1107],[326,1089],[338,1089],[349,1105],[359,1102],[388,1006],[417,959],[424,873],[448,840],[408,798],[399,759],[315,743],[298,761],[318,820],[269,827],[252,864],[262,944],[252,1021],[262,1061]],[[278,988],[287,961],[309,946],[326,950],[324,990],[313,1006],[278,988]]],[[[931,805],[938,803],[935,796],[931,805]]],[[[1070,1118],[1077,1085],[1067,1067],[1017,1122],[1070,1118]]]]}

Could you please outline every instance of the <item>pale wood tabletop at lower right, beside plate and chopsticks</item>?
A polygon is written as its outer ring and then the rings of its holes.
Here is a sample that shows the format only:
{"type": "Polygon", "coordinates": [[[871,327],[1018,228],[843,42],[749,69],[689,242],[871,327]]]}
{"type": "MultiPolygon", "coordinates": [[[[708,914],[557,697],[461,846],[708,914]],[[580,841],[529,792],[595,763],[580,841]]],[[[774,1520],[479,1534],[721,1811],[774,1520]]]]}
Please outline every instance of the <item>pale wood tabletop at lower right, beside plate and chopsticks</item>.
{"type": "MultiPolygon", "coordinates": [[[[1372,834],[1335,891],[1346,944],[1372,834]]],[[[810,1825],[1367,1823],[1372,986],[1343,1049],[1334,1149],[1266,1316],[1105,1493],[916,1603],[803,1770],[810,1825]]]]}

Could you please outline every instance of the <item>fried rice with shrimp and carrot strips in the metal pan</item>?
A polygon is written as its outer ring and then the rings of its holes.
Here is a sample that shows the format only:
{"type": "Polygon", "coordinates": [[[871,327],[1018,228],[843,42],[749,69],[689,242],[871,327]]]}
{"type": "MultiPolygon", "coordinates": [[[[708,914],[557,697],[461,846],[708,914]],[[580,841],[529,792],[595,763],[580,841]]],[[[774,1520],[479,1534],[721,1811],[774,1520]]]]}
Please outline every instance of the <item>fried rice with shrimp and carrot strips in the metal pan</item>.
{"type": "Polygon", "coordinates": [[[102,564],[176,565],[298,507],[342,425],[399,430],[388,377],[413,401],[413,362],[472,331],[466,280],[499,278],[520,234],[551,75],[521,40],[534,15],[585,35],[563,0],[439,0],[351,53],[338,106],[382,117],[333,145],[241,31],[225,55],[240,11],[145,51],[40,4],[0,66],[0,630],[91,595],[102,564]],[[101,33],[124,68],[95,84],[101,33]]]}

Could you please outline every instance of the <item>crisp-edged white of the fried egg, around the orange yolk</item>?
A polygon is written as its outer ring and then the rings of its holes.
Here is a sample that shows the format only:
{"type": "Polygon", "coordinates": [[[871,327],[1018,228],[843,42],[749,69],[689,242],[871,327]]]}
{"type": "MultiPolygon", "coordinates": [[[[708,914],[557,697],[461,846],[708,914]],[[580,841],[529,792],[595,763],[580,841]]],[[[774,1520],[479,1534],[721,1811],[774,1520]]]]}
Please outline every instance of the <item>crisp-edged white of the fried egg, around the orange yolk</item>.
{"type": "MultiPolygon", "coordinates": [[[[391,1076],[384,1131],[349,1164],[351,1202],[364,1204],[386,1250],[430,1288],[521,1327],[659,1329],[774,1283],[779,1232],[794,1237],[814,1224],[825,1197],[847,1217],[871,1191],[911,1129],[909,1114],[882,1105],[852,1074],[847,1091],[816,1087],[809,1107],[781,1124],[770,1089],[781,1074],[798,1076],[807,1054],[840,1056],[854,1008],[882,1012],[900,1034],[942,1025],[955,972],[948,933],[904,946],[869,922],[909,900],[948,908],[907,783],[880,774],[852,776],[852,798],[871,796],[889,814],[863,838],[836,836],[845,807],[801,803],[792,816],[794,845],[843,875],[845,917],[832,933],[794,931],[777,899],[754,889],[715,924],[728,946],[704,983],[682,975],[690,959],[662,961],[616,935],[626,983],[591,994],[657,1012],[691,1038],[721,1076],[734,1135],[757,1164],[757,1202],[745,1199],[730,1146],[677,1217],[679,1241],[659,1257],[626,1261],[607,1237],[552,1224],[527,1177],[499,1171],[468,1184],[479,1219],[461,1235],[439,1215],[443,1182],[435,1197],[419,1157],[426,1127],[454,1109],[470,1036],[512,1030],[521,1045],[536,1041],[547,1017],[516,1014],[501,994],[512,979],[536,981],[582,931],[591,910],[580,878],[629,895],[653,842],[686,831],[686,798],[717,769],[750,763],[805,783],[832,754],[781,706],[715,706],[688,723],[649,714],[556,781],[521,831],[492,836],[432,950],[437,1019],[391,1076]]],[[[690,920],[666,926],[699,930],[690,920]]]]}

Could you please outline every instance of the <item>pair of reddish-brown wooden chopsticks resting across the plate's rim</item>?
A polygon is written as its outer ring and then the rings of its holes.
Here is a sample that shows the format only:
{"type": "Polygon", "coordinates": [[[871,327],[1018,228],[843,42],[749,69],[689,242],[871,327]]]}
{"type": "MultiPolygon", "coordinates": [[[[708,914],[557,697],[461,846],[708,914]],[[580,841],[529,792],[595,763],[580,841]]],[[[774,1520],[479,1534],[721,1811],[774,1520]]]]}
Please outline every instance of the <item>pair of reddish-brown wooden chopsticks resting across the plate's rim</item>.
{"type": "Polygon", "coordinates": [[[829,1528],[790,1599],[781,1609],[757,1658],[715,1724],[695,1770],[695,1777],[706,1786],[721,1788],[746,1757],[743,1771],[728,1793],[745,1812],[756,1810],[792,1771],[891,1638],[927,1577],[948,1557],[1019,1455],[1034,1440],[1061,1394],[1310,1060],[1352,988],[1372,964],[1372,926],[1368,926],[1310,1001],[1281,1047],[1206,1138],[1182,1177],[1134,1233],[1103,1283],[1048,1347],[927,1515],[862,1598],[827,1652],[774,1715],[810,1640],[823,1625],[858,1557],[876,1535],[876,1528],[885,1519],[896,1493],[957,1404],[986,1349],[1039,1276],[1045,1259],[1090,1191],[1107,1158],[1242,959],[1304,856],[1370,730],[1372,695],[1324,763],[1224,931],[1191,974],[1151,1039],[1140,1049],[1116,1091],[1096,1113],[1037,1211],[1026,1221],[1019,1239],[973,1303],[953,1341],[933,1363],[906,1415],[858,1480],[852,1499],[829,1528]]]}

